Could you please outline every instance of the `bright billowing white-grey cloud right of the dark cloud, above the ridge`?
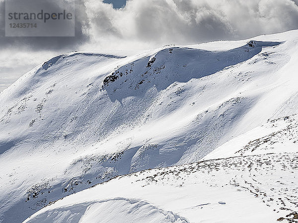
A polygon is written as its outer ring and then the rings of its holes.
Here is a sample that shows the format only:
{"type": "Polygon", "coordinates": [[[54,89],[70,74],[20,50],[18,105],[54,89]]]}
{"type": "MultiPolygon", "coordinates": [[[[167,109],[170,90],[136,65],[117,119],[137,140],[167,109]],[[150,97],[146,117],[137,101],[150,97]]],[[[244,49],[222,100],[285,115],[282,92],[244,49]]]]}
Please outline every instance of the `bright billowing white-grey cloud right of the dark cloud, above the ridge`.
{"type": "Polygon", "coordinates": [[[160,46],[244,39],[298,28],[294,0],[128,0],[119,10],[86,0],[85,6],[89,36],[106,47],[108,38],[113,40],[108,47],[140,42],[160,46]]]}

